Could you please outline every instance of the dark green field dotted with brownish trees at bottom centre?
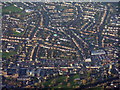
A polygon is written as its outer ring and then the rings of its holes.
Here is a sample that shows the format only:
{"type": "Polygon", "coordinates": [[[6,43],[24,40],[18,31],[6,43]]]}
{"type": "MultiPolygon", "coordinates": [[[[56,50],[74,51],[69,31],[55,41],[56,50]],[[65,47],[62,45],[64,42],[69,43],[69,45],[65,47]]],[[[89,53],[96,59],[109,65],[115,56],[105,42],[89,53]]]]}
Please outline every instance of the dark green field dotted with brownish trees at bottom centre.
{"type": "Polygon", "coordinates": [[[79,78],[79,75],[72,75],[69,78],[67,76],[59,76],[54,79],[50,79],[44,83],[44,87],[51,87],[51,88],[73,88],[79,86],[74,79],[79,78]]]}

